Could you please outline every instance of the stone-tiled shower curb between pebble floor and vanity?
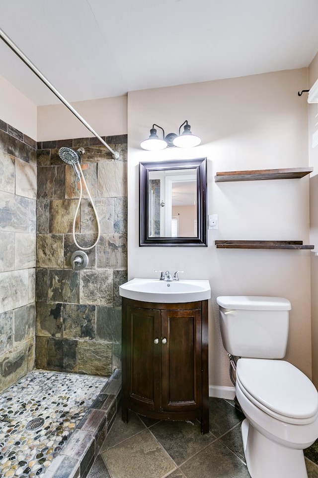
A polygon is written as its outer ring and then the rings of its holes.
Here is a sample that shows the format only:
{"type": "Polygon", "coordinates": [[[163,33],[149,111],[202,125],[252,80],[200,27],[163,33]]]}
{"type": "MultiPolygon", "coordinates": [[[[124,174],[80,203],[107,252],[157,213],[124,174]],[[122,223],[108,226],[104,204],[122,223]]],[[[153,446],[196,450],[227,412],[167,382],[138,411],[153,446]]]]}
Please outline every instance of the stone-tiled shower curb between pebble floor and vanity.
{"type": "Polygon", "coordinates": [[[121,395],[121,370],[115,369],[45,478],[85,478],[115,420],[121,395]]]}

